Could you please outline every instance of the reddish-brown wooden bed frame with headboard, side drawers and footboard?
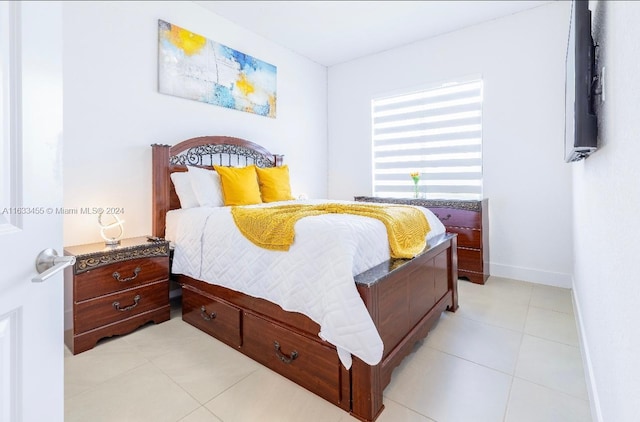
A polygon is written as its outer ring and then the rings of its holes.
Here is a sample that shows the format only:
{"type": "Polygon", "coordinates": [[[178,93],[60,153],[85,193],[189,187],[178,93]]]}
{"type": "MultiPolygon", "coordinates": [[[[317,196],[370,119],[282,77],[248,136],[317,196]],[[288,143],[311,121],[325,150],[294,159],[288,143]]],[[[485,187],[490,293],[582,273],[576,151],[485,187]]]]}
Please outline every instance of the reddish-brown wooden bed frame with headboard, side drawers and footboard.
{"type": "MultiPolygon", "coordinates": [[[[186,165],[282,165],[282,156],[239,138],[205,136],[153,148],[153,235],[164,237],[165,215],[179,208],[170,174],[186,165]]],[[[354,357],[349,370],[336,349],[318,337],[320,326],[263,299],[195,280],[182,286],[184,321],[282,374],[363,421],[384,409],[393,369],[426,337],[444,310],[458,308],[456,235],[430,240],[411,260],[391,259],[355,277],[356,287],[384,343],[371,366],[354,357]]]]}

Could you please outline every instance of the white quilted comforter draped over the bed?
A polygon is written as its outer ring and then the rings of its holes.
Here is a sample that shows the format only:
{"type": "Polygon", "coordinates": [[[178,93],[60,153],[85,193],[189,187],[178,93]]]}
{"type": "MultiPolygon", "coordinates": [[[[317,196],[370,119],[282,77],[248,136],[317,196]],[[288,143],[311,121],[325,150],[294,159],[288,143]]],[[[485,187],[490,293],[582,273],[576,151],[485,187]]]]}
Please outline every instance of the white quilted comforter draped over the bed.
{"type": "MultiPolygon", "coordinates": [[[[444,233],[437,217],[420,209],[431,227],[427,238],[444,233]]],[[[280,252],[247,240],[236,228],[229,207],[200,207],[170,211],[167,239],[175,245],[174,273],[263,298],[284,310],[308,316],[320,325],[320,337],[336,346],[347,369],[351,367],[351,354],[370,365],[380,362],[382,340],[353,276],[389,259],[382,222],[347,214],[306,217],[296,223],[289,251],[280,252]]]]}

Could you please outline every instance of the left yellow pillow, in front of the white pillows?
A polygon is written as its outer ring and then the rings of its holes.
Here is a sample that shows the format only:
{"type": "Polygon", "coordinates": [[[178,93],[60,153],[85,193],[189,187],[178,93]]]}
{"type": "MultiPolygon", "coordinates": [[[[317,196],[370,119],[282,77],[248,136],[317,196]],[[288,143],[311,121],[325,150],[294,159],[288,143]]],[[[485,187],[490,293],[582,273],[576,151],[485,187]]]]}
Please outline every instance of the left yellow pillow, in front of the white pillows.
{"type": "Polygon", "coordinates": [[[255,166],[213,168],[220,175],[225,205],[251,205],[262,202],[255,166]]]}

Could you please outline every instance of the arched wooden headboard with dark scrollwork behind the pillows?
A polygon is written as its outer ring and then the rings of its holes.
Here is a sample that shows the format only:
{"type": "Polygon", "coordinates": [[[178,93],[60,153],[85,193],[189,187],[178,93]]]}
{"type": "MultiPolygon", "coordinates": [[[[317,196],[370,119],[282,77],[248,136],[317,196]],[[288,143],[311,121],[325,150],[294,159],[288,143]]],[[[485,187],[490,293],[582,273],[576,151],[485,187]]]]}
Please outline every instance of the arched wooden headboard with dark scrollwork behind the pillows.
{"type": "Polygon", "coordinates": [[[214,164],[243,167],[282,165],[282,155],[272,154],[258,144],[229,136],[201,136],[174,146],[151,145],[152,158],[152,233],[164,237],[167,211],[180,208],[170,175],[187,171],[187,165],[212,168],[214,164]]]}

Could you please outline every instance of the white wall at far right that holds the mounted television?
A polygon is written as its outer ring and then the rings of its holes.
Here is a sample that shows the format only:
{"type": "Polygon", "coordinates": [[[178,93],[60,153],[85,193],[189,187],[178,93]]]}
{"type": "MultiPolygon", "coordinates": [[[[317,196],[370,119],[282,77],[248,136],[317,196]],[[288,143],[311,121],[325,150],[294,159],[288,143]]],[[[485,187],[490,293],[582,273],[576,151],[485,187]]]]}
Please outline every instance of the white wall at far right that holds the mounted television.
{"type": "Polygon", "coordinates": [[[640,420],[640,3],[591,4],[605,102],[600,149],[573,164],[574,295],[593,414],[640,420]],[[595,386],[597,385],[597,389],[595,386]]]}

